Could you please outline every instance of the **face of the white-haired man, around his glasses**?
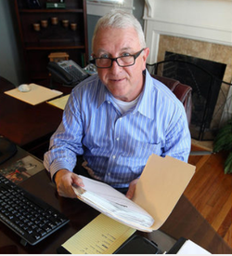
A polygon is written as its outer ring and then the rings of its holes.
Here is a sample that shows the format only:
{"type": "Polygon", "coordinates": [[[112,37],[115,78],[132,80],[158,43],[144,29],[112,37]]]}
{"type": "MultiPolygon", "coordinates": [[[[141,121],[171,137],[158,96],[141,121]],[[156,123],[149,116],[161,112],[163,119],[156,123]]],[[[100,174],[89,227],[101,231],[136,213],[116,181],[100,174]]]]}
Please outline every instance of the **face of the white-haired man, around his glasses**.
{"type": "MultiPolygon", "coordinates": [[[[141,49],[134,28],[107,28],[97,32],[93,54],[96,58],[117,58],[124,54],[134,55],[141,49]]],[[[146,68],[148,52],[148,48],[145,48],[133,66],[120,67],[113,61],[110,68],[97,69],[99,78],[116,99],[133,101],[140,94],[144,85],[142,71],[146,68]]]]}

